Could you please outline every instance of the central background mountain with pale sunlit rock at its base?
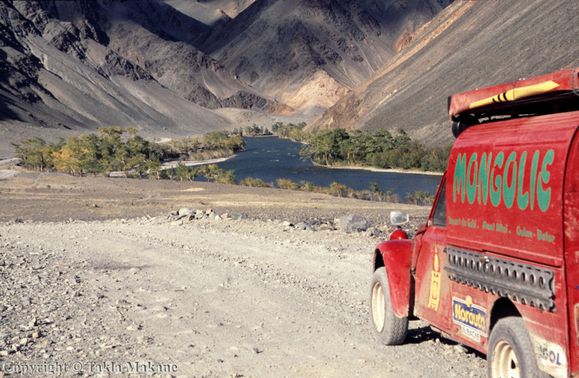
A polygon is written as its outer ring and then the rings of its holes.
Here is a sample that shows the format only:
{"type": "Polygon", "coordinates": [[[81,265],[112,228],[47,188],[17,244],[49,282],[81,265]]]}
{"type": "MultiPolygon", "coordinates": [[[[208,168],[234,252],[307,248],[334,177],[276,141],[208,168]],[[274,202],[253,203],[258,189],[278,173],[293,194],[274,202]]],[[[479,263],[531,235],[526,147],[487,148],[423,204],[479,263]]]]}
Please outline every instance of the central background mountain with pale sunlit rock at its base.
{"type": "Polygon", "coordinates": [[[243,82],[316,114],[370,77],[449,0],[262,0],[203,49],[243,82]]]}

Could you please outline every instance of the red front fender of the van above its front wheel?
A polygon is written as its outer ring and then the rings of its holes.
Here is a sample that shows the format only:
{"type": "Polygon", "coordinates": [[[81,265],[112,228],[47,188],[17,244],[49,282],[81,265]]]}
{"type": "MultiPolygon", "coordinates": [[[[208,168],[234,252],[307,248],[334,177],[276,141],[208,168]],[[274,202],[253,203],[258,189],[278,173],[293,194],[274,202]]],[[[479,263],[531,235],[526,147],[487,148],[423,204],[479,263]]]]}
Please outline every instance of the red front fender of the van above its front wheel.
{"type": "Polygon", "coordinates": [[[404,239],[388,240],[376,247],[386,268],[392,310],[399,317],[406,317],[409,314],[412,248],[412,240],[404,239]]]}

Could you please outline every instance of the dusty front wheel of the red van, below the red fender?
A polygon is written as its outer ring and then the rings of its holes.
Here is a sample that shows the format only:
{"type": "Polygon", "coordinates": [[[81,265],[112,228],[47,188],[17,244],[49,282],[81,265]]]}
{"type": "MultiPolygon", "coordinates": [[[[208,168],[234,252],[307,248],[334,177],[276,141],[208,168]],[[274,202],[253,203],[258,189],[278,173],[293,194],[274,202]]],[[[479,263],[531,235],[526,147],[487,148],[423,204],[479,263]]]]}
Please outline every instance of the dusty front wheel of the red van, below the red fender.
{"type": "Polygon", "coordinates": [[[400,345],[408,333],[408,317],[400,318],[392,311],[386,269],[376,269],[370,286],[370,320],[380,341],[386,345],[400,345]]]}

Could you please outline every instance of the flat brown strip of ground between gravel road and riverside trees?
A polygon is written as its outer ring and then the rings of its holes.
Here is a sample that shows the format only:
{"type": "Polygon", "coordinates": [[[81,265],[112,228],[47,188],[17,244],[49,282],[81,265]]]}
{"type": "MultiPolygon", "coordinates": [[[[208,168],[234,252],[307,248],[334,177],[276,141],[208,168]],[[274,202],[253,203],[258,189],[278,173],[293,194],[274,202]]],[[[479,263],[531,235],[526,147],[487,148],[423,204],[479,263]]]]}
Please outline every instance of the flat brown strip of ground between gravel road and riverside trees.
{"type": "MultiPolygon", "coordinates": [[[[0,166],[2,172],[16,167],[0,166]]],[[[267,188],[20,172],[0,181],[0,221],[102,220],[166,215],[179,207],[213,208],[260,219],[301,221],[360,213],[384,223],[390,210],[424,215],[425,208],[267,188]]],[[[427,210],[426,210],[427,211],[427,210]]]]}

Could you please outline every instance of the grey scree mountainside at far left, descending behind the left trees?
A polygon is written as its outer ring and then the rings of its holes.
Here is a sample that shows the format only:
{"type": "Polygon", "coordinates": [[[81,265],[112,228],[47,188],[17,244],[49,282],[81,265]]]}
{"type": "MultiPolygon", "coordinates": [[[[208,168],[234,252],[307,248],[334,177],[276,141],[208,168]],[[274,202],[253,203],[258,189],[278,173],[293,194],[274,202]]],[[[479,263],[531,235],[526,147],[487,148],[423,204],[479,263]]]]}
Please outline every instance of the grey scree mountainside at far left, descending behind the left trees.
{"type": "MultiPolygon", "coordinates": [[[[0,3],[1,118],[55,130],[136,126],[150,134],[229,127],[109,48],[99,8],[105,3],[0,3]]],[[[177,27],[156,32],[180,35],[177,27]]]]}

